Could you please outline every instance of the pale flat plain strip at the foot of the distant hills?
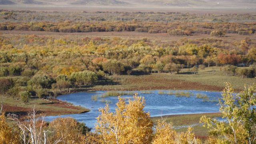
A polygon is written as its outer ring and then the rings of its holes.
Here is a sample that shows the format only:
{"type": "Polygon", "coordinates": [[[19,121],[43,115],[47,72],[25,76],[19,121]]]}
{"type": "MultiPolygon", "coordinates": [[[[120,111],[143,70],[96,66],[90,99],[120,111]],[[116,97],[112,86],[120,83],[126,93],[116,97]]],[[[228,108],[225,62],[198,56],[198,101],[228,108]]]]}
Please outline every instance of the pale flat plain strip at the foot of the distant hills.
{"type": "MultiPolygon", "coordinates": [[[[0,9],[3,10],[28,10],[28,6],[25,5],[0,5],[0,9]]],[[[132,7],[86,7],[86,6],[71,6],[65,7],[63,6],[30,6],[29,10],[34,11],[58,11],[58,12],[77,12],[77,11],[88,11],[88,12],[189,12],[194,14],[208,14],[208,13],[215,13],[215,14],[256,14],[255,9],[246,9],[246,8],[132,8],[132,7]],[[54,9],[54,10],[53,10],[54,9]]]]}

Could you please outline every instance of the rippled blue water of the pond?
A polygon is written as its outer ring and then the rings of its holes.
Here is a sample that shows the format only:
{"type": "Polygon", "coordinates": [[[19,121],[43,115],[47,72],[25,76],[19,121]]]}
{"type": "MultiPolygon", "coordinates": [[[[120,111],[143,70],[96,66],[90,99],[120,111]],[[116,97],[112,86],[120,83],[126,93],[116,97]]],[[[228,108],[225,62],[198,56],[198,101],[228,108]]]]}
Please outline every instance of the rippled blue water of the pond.
{"type": "MultiPolygon", "coordinates": [[[[161,90],[162,91],[162,90],[161,90]]],[[[206,94],[210,100],[218,100],[221,97],[221,92],[209,92],[209,91],[196,91],[196,90],[180,90],[182,92],[193,93],[194,96],[190,97],[176,97],[175,95],[158,94],[158,90],[150,91],[151,94],[142,94],[140,91],[138,94],[144,96],[146,100],[146,106],[144,111],[150,112],[151,116],[163,116],[172,114],[196,114],[196,113],[207,113],[207,112],[218,112],[218,102],[205,101],[205,99],[196,98],[196,94],[206,94]]],[[[96,117],[100,114],[99,108],[104,108],[106,103],[101,102],[102,98],[98,100],[92,100],[92,96],[100,95],[106,91],[96,92],[78,92],[73,94],[65,94],[58,96],[57,99],[62,101],[71,102],[74,105],[80,105],[85,108],[89,108],[90,112],[83,114],[68,114],[61,116],[47,116],[47,121],[52,121],[58,117],[72,117],[80,122],[84,122],[88,127],[94,128],[96,124],[96,117]]],[[[135,91],[134,91],[135,92],[135,91]]],[[[167,91],[166,91],[167,92],[167,91]]],[[[173,91],[175,92],[175,91],[173,91]]],[[[130,95],[124,95],[123,98],[132,98],[130,95]]],[[[116,102],[118,102],[117,96],[110,96],[104,98],[104,100],[111,101],[109,108],[111,112],[114,112],[116,108],[116,102]]]]}

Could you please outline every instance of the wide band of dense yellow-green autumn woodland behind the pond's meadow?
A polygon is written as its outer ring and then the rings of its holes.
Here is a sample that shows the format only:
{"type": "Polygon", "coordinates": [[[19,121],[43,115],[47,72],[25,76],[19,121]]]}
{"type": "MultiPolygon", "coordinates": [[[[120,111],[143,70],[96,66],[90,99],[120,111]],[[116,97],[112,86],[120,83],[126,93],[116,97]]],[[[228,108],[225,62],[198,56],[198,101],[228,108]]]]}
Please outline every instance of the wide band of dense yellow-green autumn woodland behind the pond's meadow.
{"type": "MultiPolygon", "coordinates": [[[[142,38],[71,38],[40,35],[0,37],[1,92],[47,96],[47,89],[90,86],[108,75],[179,73],[182,68],[220,66],[229,76],[254,77],[255,43],[250,38],[182,38],[170,43],[142,38]],[[8,84],[7,84],[8,83],[8,84]]],[[[23,96],[24,94],[20,94],[23,96]]],[[[26,100],[25,100],[26,101],[26,100]]]]}

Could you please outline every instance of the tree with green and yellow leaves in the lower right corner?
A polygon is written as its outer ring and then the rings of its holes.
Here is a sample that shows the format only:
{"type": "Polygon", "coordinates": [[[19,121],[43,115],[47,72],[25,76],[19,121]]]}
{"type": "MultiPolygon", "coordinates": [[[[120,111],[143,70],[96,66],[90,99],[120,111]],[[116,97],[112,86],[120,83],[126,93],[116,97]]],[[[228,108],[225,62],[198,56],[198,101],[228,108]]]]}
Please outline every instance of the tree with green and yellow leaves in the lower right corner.
{"type": "Polygon", "coordinates": [[[224,121],[203,116],[200,122],[209,128],[214,143],[221,144],[255,144],[256,132],[256,85],[248,86],[238,94],[230,83],[226,83],[222,98],[219,99],[220,112],[224,121]]]}

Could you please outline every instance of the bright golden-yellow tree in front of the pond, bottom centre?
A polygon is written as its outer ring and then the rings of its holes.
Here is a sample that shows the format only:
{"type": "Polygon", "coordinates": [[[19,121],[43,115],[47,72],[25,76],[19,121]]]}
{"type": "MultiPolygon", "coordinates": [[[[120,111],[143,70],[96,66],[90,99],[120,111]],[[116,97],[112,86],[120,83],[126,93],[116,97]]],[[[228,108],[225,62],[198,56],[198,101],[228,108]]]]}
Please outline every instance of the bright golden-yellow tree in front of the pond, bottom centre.
{"type": "Polygon", "coordinates": [[[134,100],[118,97],[116,112],[109,112],[108,104],[100,109],[96,131],[102,135],[105,143],[110,144],[149,144],[152,140],[150,114],[144,112],[145,99],[135,94],[134,100]]]}

